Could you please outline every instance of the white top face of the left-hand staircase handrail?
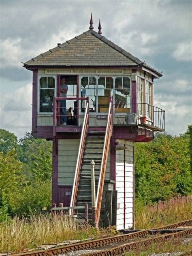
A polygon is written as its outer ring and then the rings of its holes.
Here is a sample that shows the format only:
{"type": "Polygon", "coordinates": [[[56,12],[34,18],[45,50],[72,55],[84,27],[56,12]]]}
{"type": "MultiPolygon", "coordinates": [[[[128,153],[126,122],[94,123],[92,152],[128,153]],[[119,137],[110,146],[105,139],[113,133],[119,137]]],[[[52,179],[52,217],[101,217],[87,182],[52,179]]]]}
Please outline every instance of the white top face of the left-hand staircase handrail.
{"type": "MultiPolygon", "coordinates": [[[[85,109],[85,116],[84,116],[84,120],[83,120],[83,127],[82,127],[82,131],[81,131],[81,139],[80,139],[80,143],[79,143],[79,151],[78,151],[78,156],[77,156],[77,164],[76,164],[76,168],[75,168],[75,177],[74,177],[74,181],[73,181],[73,190],[72,190],[72,194],[71,194],[70,207],[73,206],[73,196],[74,196],[74,192],[75,192],[75,181],[77,178],[77,171],[78,171],[79,160],[80,160],[79,158],[80,158],[81,147],[82,147],[82,143],[83,143],[83,134],[84,134],[84,130],[86,129],[85,122],[86,122],[86,118],[87,118],[88,109],[89,109],[89,103],[87,102],[86,109],[85,109]]],[[[72,213],[72,209],[70,209],[70,211],[69,211],[70,215],[71,215],[71,213],[72,213]]]]}

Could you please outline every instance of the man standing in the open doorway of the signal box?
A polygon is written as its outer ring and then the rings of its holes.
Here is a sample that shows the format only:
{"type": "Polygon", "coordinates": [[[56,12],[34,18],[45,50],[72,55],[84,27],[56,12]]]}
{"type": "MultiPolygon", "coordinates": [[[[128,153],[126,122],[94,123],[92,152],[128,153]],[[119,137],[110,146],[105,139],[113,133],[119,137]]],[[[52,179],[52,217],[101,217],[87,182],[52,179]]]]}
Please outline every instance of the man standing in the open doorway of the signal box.
{"type": "MultiPolygon", "coordinates": [[[[66,98],[68,91],[68,85],[66,84],[66,79],[63,77],[61,79],[60,97],[66,98]]],[[[61,123],[63,125],[67,124],[66,117],[66,100],[61,100],[61,123]]]]}

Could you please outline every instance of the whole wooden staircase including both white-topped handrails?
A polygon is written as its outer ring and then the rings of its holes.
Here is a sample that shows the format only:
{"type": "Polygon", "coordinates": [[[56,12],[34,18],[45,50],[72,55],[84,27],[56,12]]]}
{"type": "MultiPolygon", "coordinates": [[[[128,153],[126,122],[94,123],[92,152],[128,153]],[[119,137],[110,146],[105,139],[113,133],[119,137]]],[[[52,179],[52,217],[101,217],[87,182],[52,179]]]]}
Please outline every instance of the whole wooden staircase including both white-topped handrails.
{"type": "Polygon", "coordinates": [[[109,112],[105,132],[89,130],[89,103],[87,103],[70,203],[70,214],[78,215],[79,219],[84,220],[85,211],[83,208],[85,204],[87,204],[88,221],[91,222],[93,218],[94,221],[92,223],[96,225],[96,227],[98,227],[100,220],[101,201],[105,181],[107,157],[113,132],[112,102],[113,99],[112,97],[110,97],[109,112]],[[96,190],[96,205],[94,209],[94,215],[92,214],[91,160],[94,160],[95,163],[94,177],[96,190]],[[79,206],[81,209],[77,209],[77,206],[79,206]]]}

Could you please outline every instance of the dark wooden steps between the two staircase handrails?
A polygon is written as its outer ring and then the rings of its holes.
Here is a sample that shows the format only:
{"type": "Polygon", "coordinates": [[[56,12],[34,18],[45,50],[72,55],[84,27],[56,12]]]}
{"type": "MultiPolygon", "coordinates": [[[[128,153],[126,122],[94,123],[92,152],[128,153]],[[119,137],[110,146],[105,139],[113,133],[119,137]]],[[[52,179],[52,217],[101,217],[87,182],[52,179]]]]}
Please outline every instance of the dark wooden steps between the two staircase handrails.
{"type": "MultiPolygon", "coordinates": [[[[76,206],[88,204],[88,221],[92,221],[91,160],[95,162],[95,190],[97,194],[105,132],[87,132],[82,159],[76,206]]],[[[85,218],[84,209],[75,210],[80,219],[85,218]]]]}

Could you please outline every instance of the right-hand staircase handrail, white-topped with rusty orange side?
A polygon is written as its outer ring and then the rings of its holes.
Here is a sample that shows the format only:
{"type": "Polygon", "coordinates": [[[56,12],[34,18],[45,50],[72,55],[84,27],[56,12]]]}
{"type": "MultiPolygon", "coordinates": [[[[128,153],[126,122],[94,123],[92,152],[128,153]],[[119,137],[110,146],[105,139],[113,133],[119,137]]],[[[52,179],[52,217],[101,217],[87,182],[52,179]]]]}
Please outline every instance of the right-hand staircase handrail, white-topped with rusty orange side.
{"type": "Polygon", "coordinates": [[[113,129],[112,120],[113,120],[113,108],[112,108],[112,99],[111,99],[109,102],[109,112],[108,112],[107,126],[106,126],[106,132],[105,132],[105,141],[103,146],[102,161],[101,161],[101,168],[100,168],[100,175],[99,175],[98,189],[97,189],[97,196],[96,196],[96,225],[97,226],[100,218],[102,192],[103,192],[104,181],[105,181],[107,157],[108,157],[112,129],[113,129]]]}

